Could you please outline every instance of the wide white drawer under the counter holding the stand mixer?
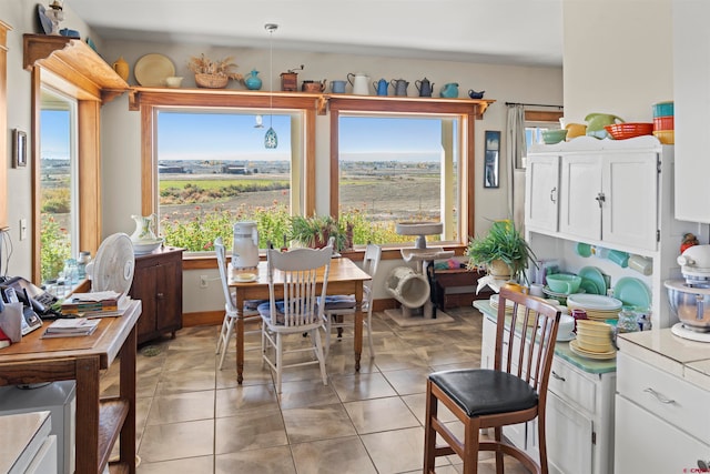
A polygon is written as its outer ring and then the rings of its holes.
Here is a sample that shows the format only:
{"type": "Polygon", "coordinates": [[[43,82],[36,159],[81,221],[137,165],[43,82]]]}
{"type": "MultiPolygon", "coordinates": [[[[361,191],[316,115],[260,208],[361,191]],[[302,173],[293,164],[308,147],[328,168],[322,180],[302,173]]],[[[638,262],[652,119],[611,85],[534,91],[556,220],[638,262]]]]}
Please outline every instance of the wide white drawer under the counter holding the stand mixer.
{"type": "Polygon", "coordinates": [[[617,354],[617,392],[703,443],[710,443],[710,392],[623,352],[617,354]]]}

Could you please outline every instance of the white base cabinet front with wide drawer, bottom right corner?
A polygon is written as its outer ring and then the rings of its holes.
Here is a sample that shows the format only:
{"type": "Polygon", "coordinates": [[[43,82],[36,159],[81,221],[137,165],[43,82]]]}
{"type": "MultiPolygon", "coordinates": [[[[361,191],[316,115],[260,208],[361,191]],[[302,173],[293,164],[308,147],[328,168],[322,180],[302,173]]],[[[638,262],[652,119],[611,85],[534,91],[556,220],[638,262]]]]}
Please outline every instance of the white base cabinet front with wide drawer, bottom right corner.
{"type": "Polygon", "coordinates": [[[617,365],[616,472],[693,472],[708,462],[710,392],[623,351],[617,365]]]}

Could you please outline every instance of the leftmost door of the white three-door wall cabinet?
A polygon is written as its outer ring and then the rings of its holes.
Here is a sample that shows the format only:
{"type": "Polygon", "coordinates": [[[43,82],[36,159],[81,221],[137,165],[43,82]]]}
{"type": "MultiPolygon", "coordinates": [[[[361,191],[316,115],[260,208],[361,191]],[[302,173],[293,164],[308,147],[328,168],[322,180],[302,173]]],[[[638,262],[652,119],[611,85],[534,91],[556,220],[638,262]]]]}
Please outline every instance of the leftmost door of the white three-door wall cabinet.
{"type": "Polygon", "coordinates": [[[525,225],[557,232],[559,215],[559,157],[529,155],[526,170],[525,225]]]}

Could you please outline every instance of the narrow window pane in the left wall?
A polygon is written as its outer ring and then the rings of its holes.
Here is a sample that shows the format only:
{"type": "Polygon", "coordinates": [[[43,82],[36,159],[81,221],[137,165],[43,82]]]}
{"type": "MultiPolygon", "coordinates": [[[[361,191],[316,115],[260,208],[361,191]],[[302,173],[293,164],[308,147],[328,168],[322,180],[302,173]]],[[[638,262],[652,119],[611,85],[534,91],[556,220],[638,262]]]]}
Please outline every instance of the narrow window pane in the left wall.
{"type": "Polygon", "coordinates": [[[42,90],[40,127],[40,269],[54,280],[79,253],[75,102],[42,90]]]}

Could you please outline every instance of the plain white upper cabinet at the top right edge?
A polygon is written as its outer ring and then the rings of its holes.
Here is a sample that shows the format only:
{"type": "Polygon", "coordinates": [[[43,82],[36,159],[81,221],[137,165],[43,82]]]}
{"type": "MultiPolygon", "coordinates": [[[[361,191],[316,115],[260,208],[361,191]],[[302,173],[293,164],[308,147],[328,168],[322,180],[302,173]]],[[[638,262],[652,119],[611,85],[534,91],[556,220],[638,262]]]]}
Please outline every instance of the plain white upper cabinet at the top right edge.
{"type": "Polygon", "coordinates": [[[676,215],[710,223],[710,2],[673,0],[676,215]]]}

